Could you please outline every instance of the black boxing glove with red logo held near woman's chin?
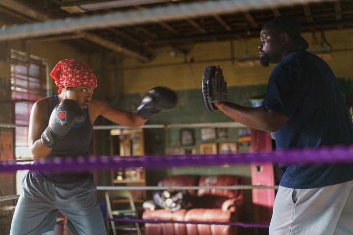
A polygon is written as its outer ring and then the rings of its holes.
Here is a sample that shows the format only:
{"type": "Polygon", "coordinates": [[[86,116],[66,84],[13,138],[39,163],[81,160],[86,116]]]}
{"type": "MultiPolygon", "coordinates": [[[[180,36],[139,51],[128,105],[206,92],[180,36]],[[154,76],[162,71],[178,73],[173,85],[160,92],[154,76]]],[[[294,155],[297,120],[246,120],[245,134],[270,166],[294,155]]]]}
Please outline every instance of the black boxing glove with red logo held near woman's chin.
{"type": "Polygon", "coordinates": [[[42,133],[42,143],[54,147],[76,123],[82,122],[85,114],[73,99],[64,99],[53,109],[48,127],[42,133]]]}

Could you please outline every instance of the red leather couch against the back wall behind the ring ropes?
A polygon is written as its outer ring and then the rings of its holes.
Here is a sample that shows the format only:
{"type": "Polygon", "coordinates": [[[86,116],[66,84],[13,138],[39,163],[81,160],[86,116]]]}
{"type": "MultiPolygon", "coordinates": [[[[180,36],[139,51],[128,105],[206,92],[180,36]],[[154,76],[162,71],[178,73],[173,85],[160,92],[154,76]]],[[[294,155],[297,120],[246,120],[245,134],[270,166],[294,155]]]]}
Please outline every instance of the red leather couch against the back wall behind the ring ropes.
{"type": "MultiPolygon", "coordinates": [[[[177,175],[165,178],[161,186],[233,186],[241,180],[234,175],[177,175]]],[[[146,220],[237,222],[241,221],[244,203],[243,190],[205,189],[188,190],[191,207],[169,212],[164,209],[145,210],[146,220]]],[[[145,235],[237,235],[238,228],[230,225],[145,223],[145,235]]]]}

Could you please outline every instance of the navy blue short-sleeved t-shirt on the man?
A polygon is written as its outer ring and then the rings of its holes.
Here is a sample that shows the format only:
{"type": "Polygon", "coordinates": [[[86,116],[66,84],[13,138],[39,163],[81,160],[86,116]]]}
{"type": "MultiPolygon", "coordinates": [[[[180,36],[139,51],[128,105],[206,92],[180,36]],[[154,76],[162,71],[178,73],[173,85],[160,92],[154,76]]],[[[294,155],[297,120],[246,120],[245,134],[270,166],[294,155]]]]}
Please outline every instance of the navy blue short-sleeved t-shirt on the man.
{"type": "MultiPolygon", "coordinates": [[[[308,51],[292,52],[277,64],[262,106],[289,117],[275,132],[277,149],[353,143],[353,123],[337,79],[324,60],[308,51]]],[[[287,188],[353,180],[353,164],[280,164],[280,168],[284,174],[279,185],[287,188]]]]}

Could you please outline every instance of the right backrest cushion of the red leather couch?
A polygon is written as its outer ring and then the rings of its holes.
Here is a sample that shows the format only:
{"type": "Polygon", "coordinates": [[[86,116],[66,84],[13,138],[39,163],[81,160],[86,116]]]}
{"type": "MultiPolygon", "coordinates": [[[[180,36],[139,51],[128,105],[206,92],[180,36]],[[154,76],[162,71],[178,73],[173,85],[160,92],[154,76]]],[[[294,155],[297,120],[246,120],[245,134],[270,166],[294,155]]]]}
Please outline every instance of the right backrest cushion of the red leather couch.
{"type": "MultiPolygon", "coordinates": [[[[238,185],[238,178],[234,175],[209,175],[201,176],[199,180],[199,186],[233,186],[238,185]]],[[[213,195],[219,197],[232,198],[238,196],[239,192],[237,189],[226,189],[226,188],[201,188],[198,190],[197,195],[199,197],[205,195],[213,195]]]]}

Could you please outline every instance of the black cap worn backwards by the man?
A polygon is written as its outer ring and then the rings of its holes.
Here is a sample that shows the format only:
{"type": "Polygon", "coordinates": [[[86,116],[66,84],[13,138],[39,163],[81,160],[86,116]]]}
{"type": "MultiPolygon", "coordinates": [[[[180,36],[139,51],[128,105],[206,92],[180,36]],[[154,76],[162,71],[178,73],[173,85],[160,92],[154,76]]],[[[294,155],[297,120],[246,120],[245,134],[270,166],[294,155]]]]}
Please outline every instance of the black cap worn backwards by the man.
{"type": "Polygon", "coordinates": [[[281,32],[286,32],[302,44],[302,49],[305,50],[309,47],[309,44],[306,40],[300,35],[301,33],[301,24],[299,21],[290,16],[275,16],[267,23],[265,23],[261,30],[263,29],[275,29],[281,32]]]}

